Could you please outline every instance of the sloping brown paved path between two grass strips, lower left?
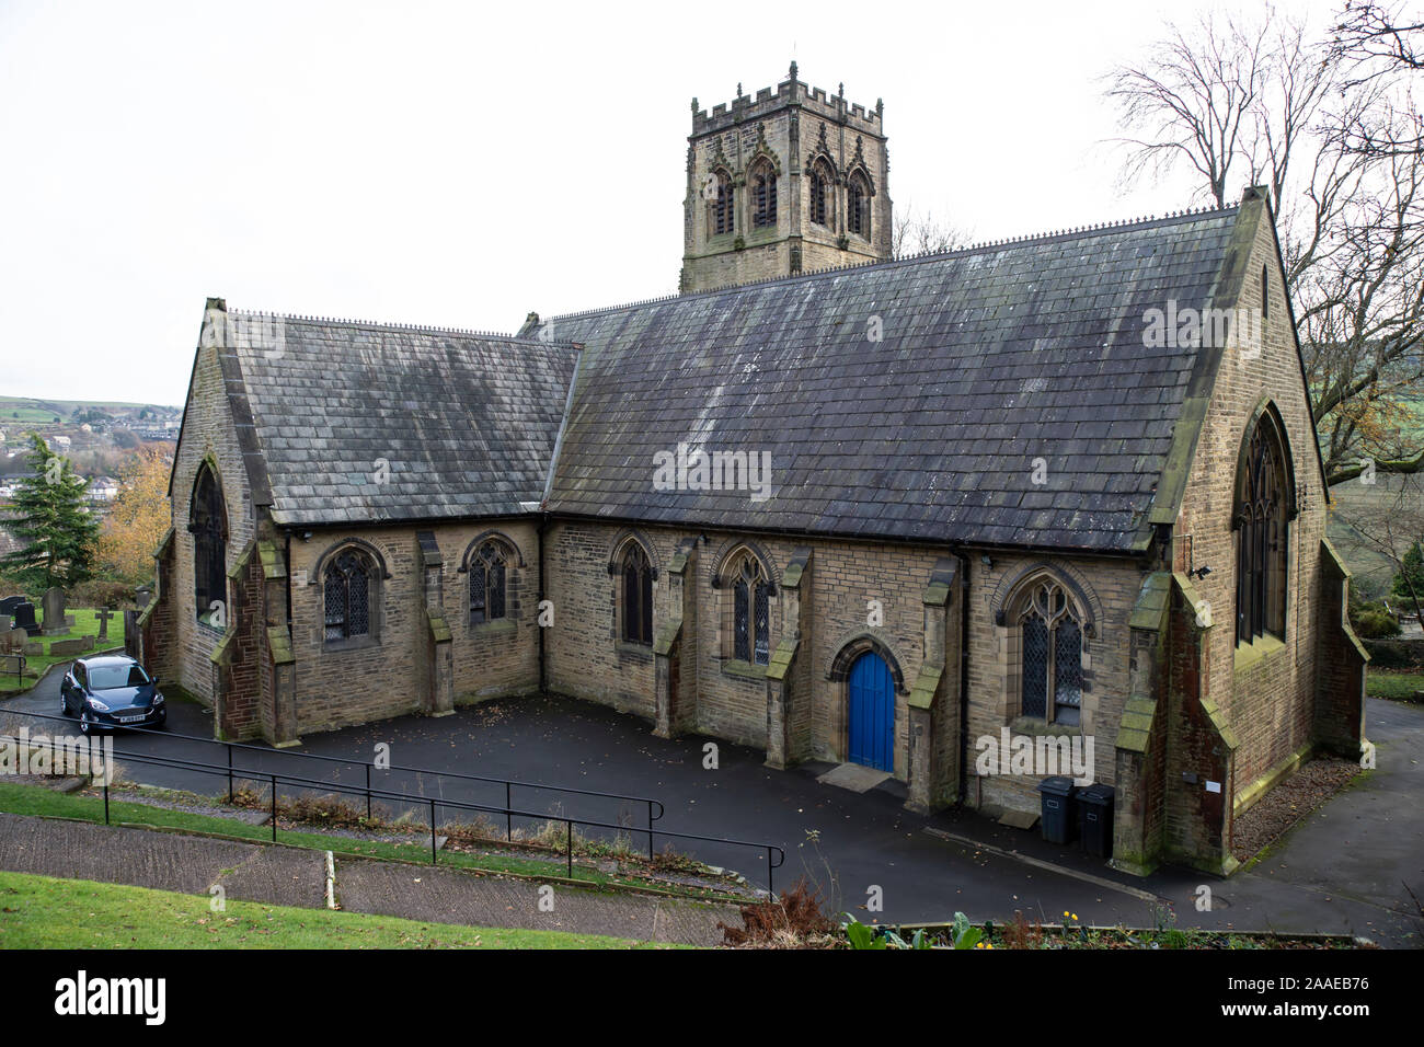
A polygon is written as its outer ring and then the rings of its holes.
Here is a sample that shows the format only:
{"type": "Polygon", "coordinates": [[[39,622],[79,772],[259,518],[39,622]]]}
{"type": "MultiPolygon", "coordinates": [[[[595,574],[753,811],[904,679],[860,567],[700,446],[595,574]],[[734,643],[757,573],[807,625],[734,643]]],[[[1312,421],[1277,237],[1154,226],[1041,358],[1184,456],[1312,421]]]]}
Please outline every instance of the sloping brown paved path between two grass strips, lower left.
{"type": "MultiPolygon", "coordinates": [[[[0,813],[0,869],[209,895],[266,905],[326,906],[326,855],[150,829],[0,813]]],[[[336,859],[345,912],[484,927],[564,930],[641,942],[719,944],[718,922],[740,926],[735,907],[648,895],[614,895],[476,876],[454,869],[336,859]]]]}

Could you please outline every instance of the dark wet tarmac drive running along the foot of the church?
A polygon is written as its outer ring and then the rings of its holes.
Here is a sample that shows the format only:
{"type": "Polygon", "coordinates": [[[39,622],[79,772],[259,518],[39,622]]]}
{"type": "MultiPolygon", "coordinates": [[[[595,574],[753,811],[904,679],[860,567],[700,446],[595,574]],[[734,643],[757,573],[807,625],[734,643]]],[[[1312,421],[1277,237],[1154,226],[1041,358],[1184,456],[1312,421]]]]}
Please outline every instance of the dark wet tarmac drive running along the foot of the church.
{"type": "MultiPolygon", "coordinates": [[[[57,677],[50,677],[30,695],[4,702],[0,712],[53,712],[57,688],[57,677]]],[[[893,781],[854,793],[817,782],[829,769],[824,764],[772,771],[763,766],[759,751],[729,742],[715,742],[718,768],[705,769],[703,745],[711,739],[655,738],[638,718],[557,697],[487,702],[441,719],[403,717],[309,735],[298,751],[263,749],[239,756],[239,764],[279,772],[293,768],[290,773],[312,776],[310,769],[295,769],[300,761],[292,752],[369,761],[376,744],[386,742],[392,759],[403,765],[652,796],[666,805],[661,828],[785,846],[787,859],[776,873],[778,889],[807,875],[822,887],[827,909],[850,910],[860,919],[944,920],[963,910],[974,919],[1005,920],[1022,910],[1031,919],[1057,920],[1069,910],[1084,923],[1152,926],[1158,909],[1171,906],[1178,926],[1351,933],[1381,944],[1418,947],[1424,922],[1404,885],[1424,899],[1424,709],[1371,699],[1367,717],[1368,735],[1380,746],[1378,771],[1306,819],[1267,862],[1229,880],[1179,869],[1146,879],[1126,876],[973,811],[911,815],[901,806],[903,786],[893,781]],[[943,839],[927,832],[930,828],[973,843],[943,839]],[[1000,852],[1020,852],[1054,868],[1000,852]],[[1210,912],[1195,907],[1203,883],[1213,892],[1210,912]],[[873,895],[883,897],[880,912],[864,907],[873,895]]],[[[177,732],[212,732],[208,714],[187,704],[172,707],[169,724],[177,732]]],[[[124,735],[118,745],[225,759],[218,746],[162,735],[124,735]]],[[[225,788],[221,775],[179,769],[135,765],[128,776],[206,793],[225,788]]],[[[360,785],[365,769],[323,765],[320,776],[360,785]]],[[[420,796],[504,803],[503,786],[430,775],[390,773],[377,776],[376,782],[382,781],[420,796]]],[[[638,803],[520,788],[513,795],[515,806],[524,809],[646,825],[645,808],[638,803]]],[[[765,883],[765,853],[711,845],[685,849],[765,883]]]]}

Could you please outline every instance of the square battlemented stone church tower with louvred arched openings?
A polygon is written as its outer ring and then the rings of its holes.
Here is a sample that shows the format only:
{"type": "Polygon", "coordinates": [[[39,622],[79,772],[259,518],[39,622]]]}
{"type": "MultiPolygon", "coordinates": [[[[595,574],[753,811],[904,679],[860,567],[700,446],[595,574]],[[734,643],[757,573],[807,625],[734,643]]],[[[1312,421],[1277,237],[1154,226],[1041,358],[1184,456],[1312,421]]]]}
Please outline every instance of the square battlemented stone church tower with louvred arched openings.
{"type": "Polygon", "coordinates": [[[711,115],[692,100],[679,289],[890,258],[884,105],[796,78],[711,115]]]}

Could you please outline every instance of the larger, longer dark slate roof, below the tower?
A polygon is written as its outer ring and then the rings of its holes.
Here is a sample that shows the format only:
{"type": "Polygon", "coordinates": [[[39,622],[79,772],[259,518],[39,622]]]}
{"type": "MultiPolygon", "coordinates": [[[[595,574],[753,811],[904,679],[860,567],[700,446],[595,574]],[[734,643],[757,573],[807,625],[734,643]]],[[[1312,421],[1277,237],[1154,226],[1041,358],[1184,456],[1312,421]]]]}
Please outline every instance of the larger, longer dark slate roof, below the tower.
{"type": "MultiPolygon", "coordinates": [[[[1213,305],[1237,208],[557,316],[584,343],[555,513],[1128,551],[1198,352],[1143,313],[1213,305]],[[879,316],[883,340],[867,340],[879,316]],[[772,496],[655,490],[655,453],[770,453],[772,496]],[[1047,483],[1035,484],[1044,459],[1047,483]]],[[[534,333],[533,328],[521,333],[534,333]]]]}

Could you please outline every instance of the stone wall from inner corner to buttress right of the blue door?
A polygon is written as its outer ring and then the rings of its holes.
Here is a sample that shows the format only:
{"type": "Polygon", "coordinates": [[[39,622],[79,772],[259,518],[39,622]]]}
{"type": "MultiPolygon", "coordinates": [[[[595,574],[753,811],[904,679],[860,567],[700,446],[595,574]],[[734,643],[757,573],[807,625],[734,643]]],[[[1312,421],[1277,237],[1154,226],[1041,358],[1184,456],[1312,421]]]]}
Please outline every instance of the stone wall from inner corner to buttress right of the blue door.
{"type": "MultiPolygon", "coordinates": [[[[681,685],[691,685],[695,712],[689,729],[755,748],[768,748],[766,667],[732,658],[731,590],[716,575],[746,546],[768,566],[778,587],[770,603],[772,647],[786,637],[786,594],[782,577],[799,547],[810,551],[799,600],[800,642],[790,674],[790,759],[846,758],[846,688],[832,679],[836,657],[857,641],[873,641],[897,670],[896,766],[907,775],[909,718],[906,699],[924,658],[923,590],[944,550],[852,541],[748,538],[723,531],[645,527],[625,528],[555,520],[545,538],[548,595],[555,625],[548,631],[548,688],[598,701],[652,721],[655,668],[648,648],[618,638],[615,578],[608,567],[615,548],[629,537],[651,547],[659,567],[655,581],[654,632],[668,613],[672,578],[668,564],[686,544],[695,546],[682,623],[681,685]],[[883,623],[869,624],[869,603],[880,603],[883,623]]],[[[950,675],[957,677],[958,667],[950,675]]],[[[943,739],[940,745],[943,748],[943,739]]]]}

